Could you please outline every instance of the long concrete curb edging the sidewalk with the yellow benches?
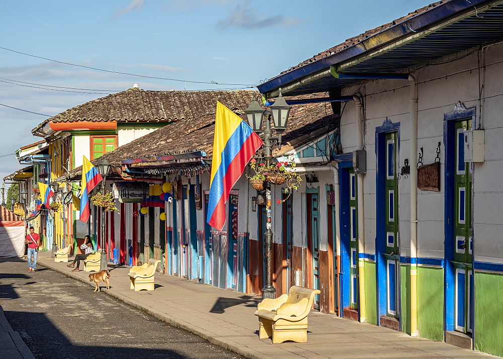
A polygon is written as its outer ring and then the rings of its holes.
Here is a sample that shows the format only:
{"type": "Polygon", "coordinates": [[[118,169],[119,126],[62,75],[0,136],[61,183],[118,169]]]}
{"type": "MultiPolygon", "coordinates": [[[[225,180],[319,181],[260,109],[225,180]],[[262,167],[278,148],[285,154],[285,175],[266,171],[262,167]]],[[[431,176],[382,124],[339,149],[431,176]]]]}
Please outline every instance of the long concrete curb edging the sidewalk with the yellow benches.
{"type": "MultiPolygon", "coordinates": [[[[94,282],[90,282],[89,280],[87,280],[86,278],[82,278],[80,277],[79,275],[76,275],[74,273],[72,273],[71,271],[63,271],[61,270],[60,268],[54,266],[54,265],[51,265],[49,263],[41,263],[40,260],[38,261],[39,265],[43,266],[43,267],[46,267],[46,268],[49,268],[49,269],[52,269],[53,271],[56,271],[56,272],[59,272],[59,273],[62,273],[64,275],[66,275],[67,277],[70,277],[70,278],[73,278],[73,279],[76,279],[76,280],[79,280],[83,283],[87,283],[89,284],[90,286],[94,287],[95,284],[94,282]]],[[[210,343],[212,344],[215,344],[215,345],[218,345],[220,346],[221,348],[223,349],[226,349],[226,350],[229,350],[229,351],[233,351],[235,352],[236,354],[239,354],[239,355],[242,355],[246,358],[250,358],[250,359],[261,359],[261,358],[268,358],[268,357],[271,357],[271,356],[265,356],[263,353],[260,353],[260,352],[257,352],[253,349],[250,350],[249,347],[247,346],[244,346],[244,345],[239,345],[239,344],[236,344],[236,342],[234,341],[231,341],[231,340],[227,340],[225,339],[224,337],[221,337],[221,336],[217,336],[213,333],[210,333],[202,328],[199,328],[197,326],[194,326],[194,325],[191,325],[187,322],[184,322],[180,319],[176,319],[176,318],[173,318],[173,317],[170,317],[168,315],[165,315],[165,314],[161,314],[161,313],[158,313],[156,312],[153,308],[149,307],[149,306],[146,306],[134,299],[131,299],[131,298],[127,298],[125,296],[123,296],[122,294],[114,291],[113,289],[106,289],[106,288],[102,288],[101,289],[102,292],[114,297],[114,298],[117,298],[119,299],[120,301],[128,304],[128,305],[131,305],[135,308],[138,308],[148,314],[150,314],[151,316],[163,321],[163,322],[166,322],[170,325],[172,325],[173,327],[176,327],[176,328],[179,328],[179,329],[183,329],[183,330],[186,330],[190,333],[193,333],[193,334],[196,334],[197,336],[200,336],[201,338],[205,339],[205,340],[208,340],[210,343]]]]}

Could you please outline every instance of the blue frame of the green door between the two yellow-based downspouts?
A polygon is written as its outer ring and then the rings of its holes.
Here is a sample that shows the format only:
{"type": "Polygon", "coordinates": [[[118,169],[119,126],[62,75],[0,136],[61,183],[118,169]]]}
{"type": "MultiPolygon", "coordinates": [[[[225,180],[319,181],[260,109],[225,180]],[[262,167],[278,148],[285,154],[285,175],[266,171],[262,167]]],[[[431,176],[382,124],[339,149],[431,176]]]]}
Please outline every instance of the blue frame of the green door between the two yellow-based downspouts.
{"type": "MultiPolygon", "coordinates": [[[[381,315],[386,315],[386,141],[384,135],[397,132],[397,151],[400,150],[400,123],[392,123],[386,118],[382,126],[376,127],[376,297],[377,297],[377,325],[381,325],[381,315]]],[[[399,282],[398,282],[399,284],[399,282]]],[[[400,303],[400,301],[398,301],[400,303]]],[[[401,316],[399,316],[401,328],[401,316]]]]}

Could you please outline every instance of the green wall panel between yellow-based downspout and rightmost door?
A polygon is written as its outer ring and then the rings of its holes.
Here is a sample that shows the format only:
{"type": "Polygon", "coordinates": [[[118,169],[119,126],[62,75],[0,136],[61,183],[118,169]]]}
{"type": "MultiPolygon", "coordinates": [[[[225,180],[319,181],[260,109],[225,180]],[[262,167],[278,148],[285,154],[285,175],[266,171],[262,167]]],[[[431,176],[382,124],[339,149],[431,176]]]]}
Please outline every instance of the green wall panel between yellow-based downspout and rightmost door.
{"type": "Polygon", "coordinates": [[[424,338],[444,341],[444,270],[417,267],[417,327],[424,338]]]}

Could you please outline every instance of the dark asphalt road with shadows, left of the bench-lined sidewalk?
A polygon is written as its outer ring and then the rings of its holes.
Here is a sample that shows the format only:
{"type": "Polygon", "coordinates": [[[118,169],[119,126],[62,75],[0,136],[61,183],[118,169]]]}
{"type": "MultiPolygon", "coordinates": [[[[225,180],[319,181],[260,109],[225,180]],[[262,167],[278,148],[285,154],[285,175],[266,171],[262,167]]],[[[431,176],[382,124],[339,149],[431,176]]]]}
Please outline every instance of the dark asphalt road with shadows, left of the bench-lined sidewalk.
{"type": "Polygon", "coordinates": [[[23,260],[0,260],[0,305],[37,358],[241,357],[23,260]]]}

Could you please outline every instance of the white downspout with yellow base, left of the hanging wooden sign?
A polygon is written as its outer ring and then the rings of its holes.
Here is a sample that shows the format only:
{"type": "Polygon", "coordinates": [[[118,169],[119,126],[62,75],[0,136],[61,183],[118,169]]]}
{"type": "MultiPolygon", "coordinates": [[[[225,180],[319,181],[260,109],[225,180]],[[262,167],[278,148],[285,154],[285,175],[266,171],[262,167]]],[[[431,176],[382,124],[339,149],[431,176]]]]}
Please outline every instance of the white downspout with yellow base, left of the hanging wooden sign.
{"type": "MultiPolygon", "coordinates": [[[[417,153],[417,83],[410,82],[410,159],[417,153]]],[[[410,166],[410,335],[417,336],[417,166],[410,166]]]]}

